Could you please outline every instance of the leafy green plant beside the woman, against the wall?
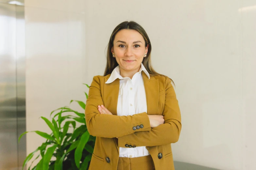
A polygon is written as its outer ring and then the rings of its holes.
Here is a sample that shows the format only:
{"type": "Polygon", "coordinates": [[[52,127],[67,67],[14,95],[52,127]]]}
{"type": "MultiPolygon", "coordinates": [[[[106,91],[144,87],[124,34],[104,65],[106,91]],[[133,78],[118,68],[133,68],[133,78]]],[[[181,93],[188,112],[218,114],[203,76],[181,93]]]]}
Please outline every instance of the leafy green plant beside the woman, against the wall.
{"type": "MultiPolygon", "coordinates": [[[[84,85],[89,88],[88,84],[84,85]]],[[[87,99],[88,94],[84,93],[87,99]]],[[[74,101],[85,109],[84,102],[71,100],[70,104],[74,101]]],[[[69,106],[64,106],[52,111],[50,117],[52,115],[51,121],[43,116],[41,117],[51,129],[51,134],[31,131],[42,136],[46,141],[26,157],[23,168],[28,161],[35,157],[28,168],[30,170],[33,162],[41,155],[41,160],[31,170],[87,170],[92,158],[96,137],[90,135],[87,131],[85,114],[79,113],[69,108],[69,106]],[[77,122],[80,124],[79,127],[76,127],[77,122]],[[72,133],[68,133],[70,127],[73,128],[72,133]],[[38,155],[34,156],[36,153],[38,155]]],[[[28,132],[20,135],[19,141],[26,133],[28,132]]]]}

